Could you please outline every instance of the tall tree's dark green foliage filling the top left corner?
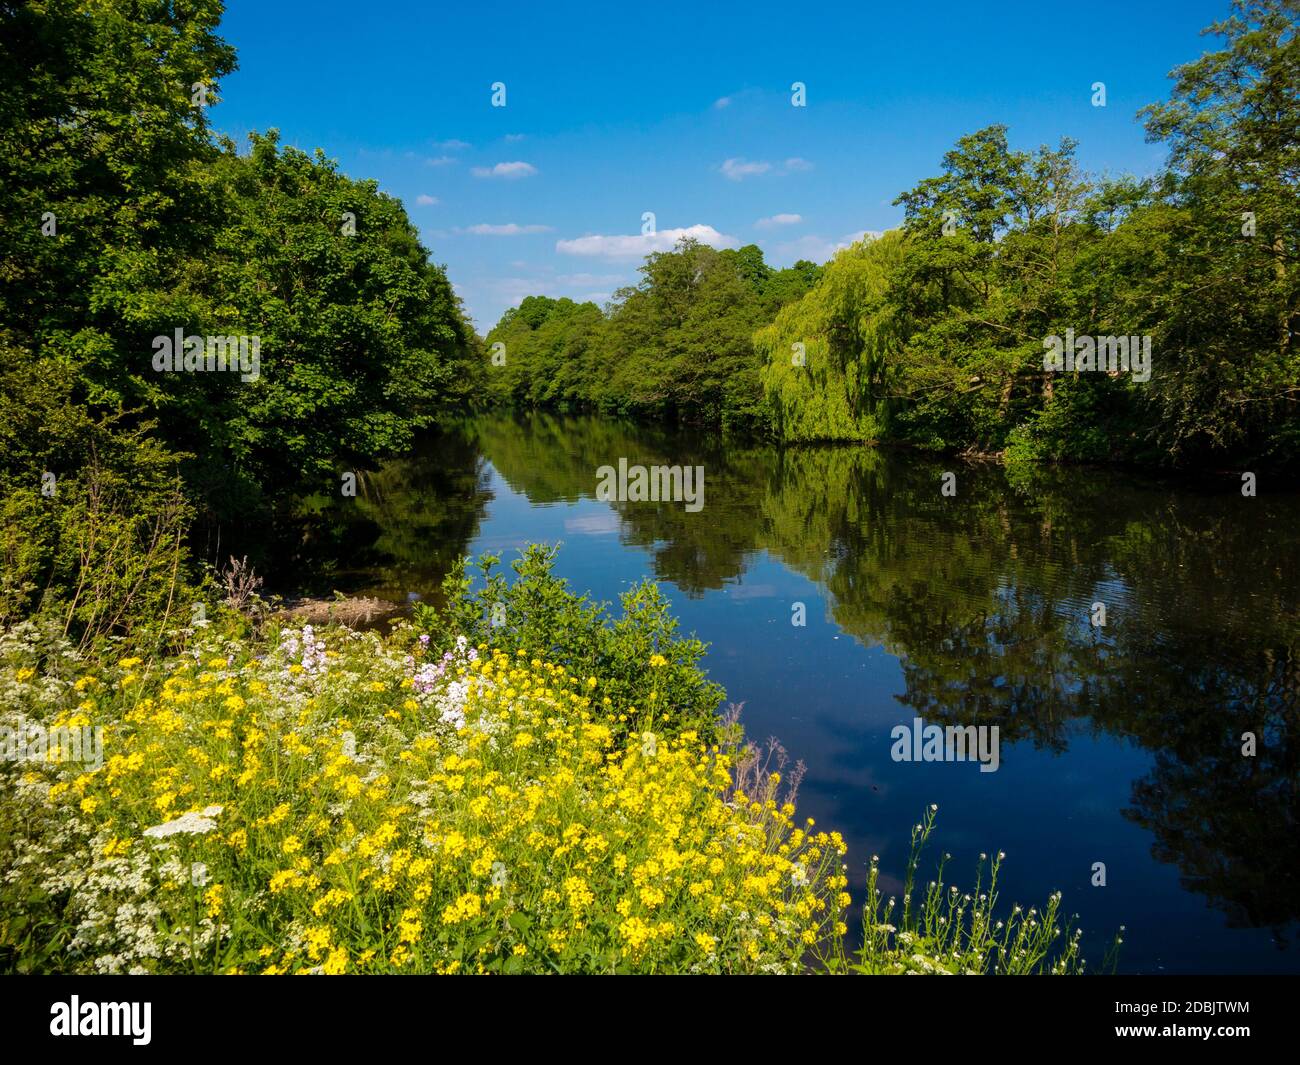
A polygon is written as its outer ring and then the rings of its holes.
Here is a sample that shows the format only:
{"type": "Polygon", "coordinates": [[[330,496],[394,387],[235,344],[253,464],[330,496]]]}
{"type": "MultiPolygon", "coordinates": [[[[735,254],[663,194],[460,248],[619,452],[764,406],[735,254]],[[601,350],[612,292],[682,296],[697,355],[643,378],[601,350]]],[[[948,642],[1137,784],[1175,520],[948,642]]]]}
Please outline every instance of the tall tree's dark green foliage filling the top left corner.
{"type": "Polygon", "coordinates": [[[0,4],[0,321],[36,355],[74,355],[100,388],[121,375],[134,291],[183,287],[208,235],[216,148],[194,87],[216,103],[235,69],[221,12],[0,4]]]}

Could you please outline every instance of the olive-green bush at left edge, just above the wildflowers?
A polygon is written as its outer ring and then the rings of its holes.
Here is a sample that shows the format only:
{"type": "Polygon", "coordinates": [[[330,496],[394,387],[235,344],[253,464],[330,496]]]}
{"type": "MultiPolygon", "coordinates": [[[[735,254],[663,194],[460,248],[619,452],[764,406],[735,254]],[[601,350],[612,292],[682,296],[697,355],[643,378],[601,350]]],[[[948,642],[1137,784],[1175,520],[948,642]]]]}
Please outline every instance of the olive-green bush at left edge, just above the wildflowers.
{"type": "Polygon", "coordinates": [[[0,624],[42,614],[83,645],[144,645],[195,583],[179,456],[74,403],[62,369],[0,348],[0,624]]]}

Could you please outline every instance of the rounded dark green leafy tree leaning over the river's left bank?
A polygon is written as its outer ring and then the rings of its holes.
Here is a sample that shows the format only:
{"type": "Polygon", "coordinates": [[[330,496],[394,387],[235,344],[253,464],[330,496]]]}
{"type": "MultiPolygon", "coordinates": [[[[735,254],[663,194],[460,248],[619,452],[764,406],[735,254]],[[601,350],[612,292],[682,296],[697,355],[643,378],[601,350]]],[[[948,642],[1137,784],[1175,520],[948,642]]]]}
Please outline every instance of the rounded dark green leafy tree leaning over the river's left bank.
{"type": "MultiPolygon", "coordinates": [[[[150,390],[169,438],[200,456],[209,498],[226,469],[278,498],[337,489],[339,469],[402,453],[473,388],[472,333],[402,204],[318,150],[281,150],[274,133],[251,143],[221,157],[230,211],[187,322],[260,335],[260,376],[155,375],[150,390]]],[[[146,334],[177,321],[174,306],[157,309],[146,334]]]]}

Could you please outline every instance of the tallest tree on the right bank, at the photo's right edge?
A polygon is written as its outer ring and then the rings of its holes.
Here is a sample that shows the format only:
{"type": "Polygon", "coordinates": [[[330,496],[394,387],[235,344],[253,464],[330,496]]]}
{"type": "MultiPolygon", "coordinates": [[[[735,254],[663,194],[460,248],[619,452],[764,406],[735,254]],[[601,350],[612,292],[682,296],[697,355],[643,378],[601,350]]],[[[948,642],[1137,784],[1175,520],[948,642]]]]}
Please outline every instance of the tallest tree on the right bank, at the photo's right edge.
{"type": "Polygon", "coordinates": [[[1296,462],[1297,18],[1296,0],[1234,3],[1205,31],[1226,47],[1175,70],[1171,99],[1143,111],[1170,169],[1148,226],[1162,269],[1132,296],[1160,308],[1157,433],[1175,455],[1296,462]]]}

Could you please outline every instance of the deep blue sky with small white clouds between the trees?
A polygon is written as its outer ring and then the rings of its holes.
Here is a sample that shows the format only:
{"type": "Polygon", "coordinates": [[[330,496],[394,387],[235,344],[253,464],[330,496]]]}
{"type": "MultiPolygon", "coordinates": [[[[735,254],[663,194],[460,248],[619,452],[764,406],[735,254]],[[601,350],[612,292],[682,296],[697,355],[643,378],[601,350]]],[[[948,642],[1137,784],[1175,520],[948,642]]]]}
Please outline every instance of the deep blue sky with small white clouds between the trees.
{"type": "Polygon", "coordinates": [[[400,198],[486,332],[529,294],[603,303],[676,230],[757,243],[775,265],[824,261],[897,225],[894,196],[992,122],[1020,148],[1074,137],[1092,172],[1150,173],[1164,150],[1135,112],[1217,47],[1200,30],[1226,13],[1227,0],[229,0],[239,70],[212,117],[237,138],[278,127],[400,198]]]}

